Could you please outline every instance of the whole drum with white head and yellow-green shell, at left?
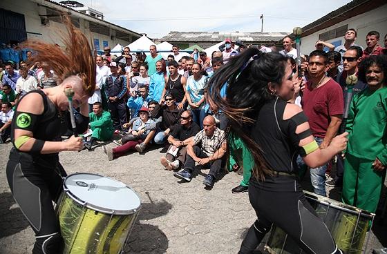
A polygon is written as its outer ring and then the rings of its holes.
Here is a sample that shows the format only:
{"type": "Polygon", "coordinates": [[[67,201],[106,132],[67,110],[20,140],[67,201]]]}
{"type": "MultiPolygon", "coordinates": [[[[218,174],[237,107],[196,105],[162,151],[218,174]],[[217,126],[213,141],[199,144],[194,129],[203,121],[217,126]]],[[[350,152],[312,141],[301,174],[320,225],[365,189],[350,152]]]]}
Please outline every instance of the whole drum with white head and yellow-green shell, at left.
{"type": "Polygon", "coordinates": [[[141,208],[122,182],[88,173],[66,177],[59,200],[64,254],[120,253],[141,208]]]}

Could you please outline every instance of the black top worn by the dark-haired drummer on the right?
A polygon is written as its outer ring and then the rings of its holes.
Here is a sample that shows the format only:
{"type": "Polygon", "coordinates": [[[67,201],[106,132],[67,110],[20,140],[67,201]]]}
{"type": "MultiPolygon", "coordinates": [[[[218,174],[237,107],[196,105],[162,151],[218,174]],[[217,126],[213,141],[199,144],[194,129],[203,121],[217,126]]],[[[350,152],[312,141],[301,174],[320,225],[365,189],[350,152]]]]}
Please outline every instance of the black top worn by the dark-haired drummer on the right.
{"type": "MultiPolygon", "coordinates": [[[[283,120],[287,101],[279,97],[265,103],[256,117],[252,138],[263,151],[263,157],[274,171],[296,173],[299,155],[297,124],[290,118],[283,120]]],[[[302,113],[303,114],[303,113],[302,113]]]]}

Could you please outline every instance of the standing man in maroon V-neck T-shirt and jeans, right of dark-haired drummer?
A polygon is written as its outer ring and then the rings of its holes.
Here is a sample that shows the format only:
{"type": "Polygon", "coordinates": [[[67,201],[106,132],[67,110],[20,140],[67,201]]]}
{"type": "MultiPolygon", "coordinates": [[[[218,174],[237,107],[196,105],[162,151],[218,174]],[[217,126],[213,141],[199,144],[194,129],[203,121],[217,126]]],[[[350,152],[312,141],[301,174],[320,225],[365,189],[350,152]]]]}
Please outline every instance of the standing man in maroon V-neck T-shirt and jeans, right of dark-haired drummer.
{"type": "MultiPolygon", "coordinates": [[[[336,81],[327,77],[328,55],[322,50],[314,50],[309,55],[308,73],[310,79],[303,91],[301,104],[309,119],[310,130],[320,148],[329,146],[337,134],[343,115],[343,90],[336,81]]],[[[326,195],[325,171],[327,165],[310,168],[310,180],[314,193],[326,195]]]]}

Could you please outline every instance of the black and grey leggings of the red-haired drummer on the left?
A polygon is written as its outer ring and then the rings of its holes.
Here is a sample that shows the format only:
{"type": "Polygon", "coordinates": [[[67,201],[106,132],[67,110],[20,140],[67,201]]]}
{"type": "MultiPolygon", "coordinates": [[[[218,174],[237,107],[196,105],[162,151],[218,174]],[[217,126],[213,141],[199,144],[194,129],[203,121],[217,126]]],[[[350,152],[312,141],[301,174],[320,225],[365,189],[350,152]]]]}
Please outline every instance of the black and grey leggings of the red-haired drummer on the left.
{"type": "Polygon", "coordinates": [[[23,215],[35,231],[33,254],[62,253],[64,242],[53,208],[62,192],[66,172],[57,155],[34,156],[15,148],[10,152],[7,179],[23,215]]]}

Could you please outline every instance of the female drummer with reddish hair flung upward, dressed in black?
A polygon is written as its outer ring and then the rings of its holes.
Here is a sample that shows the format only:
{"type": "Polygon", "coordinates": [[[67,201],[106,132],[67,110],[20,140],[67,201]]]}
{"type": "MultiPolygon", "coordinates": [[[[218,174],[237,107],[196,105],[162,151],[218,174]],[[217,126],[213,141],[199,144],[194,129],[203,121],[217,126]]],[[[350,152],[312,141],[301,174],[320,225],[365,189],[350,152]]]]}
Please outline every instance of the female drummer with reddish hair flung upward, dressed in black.
{"type": "Polygon", "coordinates": [[[73,106],[80,108],[80,115],[76,117],[78,133],[87,129],[87,99],[95,90],[95,61],[88,39],[69,20],[66,25],[66,52],[43,42],[28,43],[28,48],[37,52],[33,62],[47,63],[62,82],[58,82],[59,86],[24,95],[12,120],[14,147],[7,164],[7,178],[17,204],[35,231],[34,254],[62,253],[64,244],[52,203],[57,201],[62,177],[66,176],[58,153],[83,147],[81,137],[61,139],[70,127],[64,89],[72,88],[75,92],[73,106]]]}

